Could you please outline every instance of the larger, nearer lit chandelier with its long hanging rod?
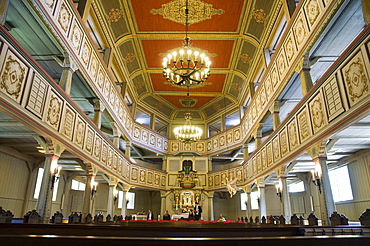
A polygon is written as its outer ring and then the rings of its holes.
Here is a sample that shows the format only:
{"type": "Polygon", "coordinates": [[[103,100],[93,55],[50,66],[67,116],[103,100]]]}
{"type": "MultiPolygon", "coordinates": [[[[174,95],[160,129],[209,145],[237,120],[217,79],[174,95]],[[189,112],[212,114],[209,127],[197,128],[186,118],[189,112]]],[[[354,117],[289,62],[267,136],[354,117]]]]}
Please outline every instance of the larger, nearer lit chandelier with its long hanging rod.
{"type": "Polygon", "coordinates": [[[210,75],[211,61],[196,49],[191,49],[188,37],[188,1],[185,7],[186,36],[183,48],[172,51],[163,58],[163,76],[172,84],[177,86],[192,86],[203,83],[210,75]]]}

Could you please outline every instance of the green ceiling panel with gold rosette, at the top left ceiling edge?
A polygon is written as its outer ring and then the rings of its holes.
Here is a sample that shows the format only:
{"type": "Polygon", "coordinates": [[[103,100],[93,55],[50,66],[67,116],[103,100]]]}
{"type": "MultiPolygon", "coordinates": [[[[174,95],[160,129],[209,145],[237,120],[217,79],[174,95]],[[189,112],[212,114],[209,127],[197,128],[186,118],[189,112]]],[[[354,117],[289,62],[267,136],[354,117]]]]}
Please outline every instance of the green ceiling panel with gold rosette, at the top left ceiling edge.
{"type": "Polygon", "coordinates": [[[114,38],[129,34],[127,27],[126,14],[119,0],[101,1],[103,5],[105,18],[112,30],[114,38]]]}

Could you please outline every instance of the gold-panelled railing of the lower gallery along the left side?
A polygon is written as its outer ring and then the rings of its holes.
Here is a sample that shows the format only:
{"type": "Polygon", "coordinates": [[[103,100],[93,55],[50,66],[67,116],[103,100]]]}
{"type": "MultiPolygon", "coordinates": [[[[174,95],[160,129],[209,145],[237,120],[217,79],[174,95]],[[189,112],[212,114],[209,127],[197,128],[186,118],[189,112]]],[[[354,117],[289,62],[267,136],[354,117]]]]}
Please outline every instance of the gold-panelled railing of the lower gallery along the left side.
{"type": "MultiPolygon", "coordinates": [[[[165,188],[164,172],[126,159],[2,26],[0,31],[0,107],[3,110],[38,134],[60,141],[85,162],[128,184],[165,188]]],[[[158,142],[154,143],[157,147],[158,142]]]]}

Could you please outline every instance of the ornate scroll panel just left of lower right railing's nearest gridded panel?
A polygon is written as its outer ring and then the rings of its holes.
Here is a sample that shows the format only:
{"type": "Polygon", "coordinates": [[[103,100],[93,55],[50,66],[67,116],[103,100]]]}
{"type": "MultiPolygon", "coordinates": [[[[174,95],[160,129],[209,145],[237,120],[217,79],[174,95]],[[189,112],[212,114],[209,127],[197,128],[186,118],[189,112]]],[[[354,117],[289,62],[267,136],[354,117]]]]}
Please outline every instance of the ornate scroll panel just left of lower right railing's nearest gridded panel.
{"type": "Polygon", "coordinates": [[[325,103],[322,94],[318,93],[308,105],[310,109],[313,132],[317,133],[321,128],[328,124],[325,103]]]}

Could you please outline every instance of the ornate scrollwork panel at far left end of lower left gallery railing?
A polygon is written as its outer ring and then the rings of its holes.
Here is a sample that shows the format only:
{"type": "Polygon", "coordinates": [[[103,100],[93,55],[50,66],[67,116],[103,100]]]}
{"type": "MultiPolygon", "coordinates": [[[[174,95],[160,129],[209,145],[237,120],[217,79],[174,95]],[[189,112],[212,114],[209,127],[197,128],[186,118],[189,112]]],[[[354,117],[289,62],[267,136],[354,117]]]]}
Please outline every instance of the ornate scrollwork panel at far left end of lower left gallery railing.
{"type": "Polygon", "coordinates": [[[8,50],[1,70],[0,91],[20,103],[27,72],[28,67],[8,50]]]}

